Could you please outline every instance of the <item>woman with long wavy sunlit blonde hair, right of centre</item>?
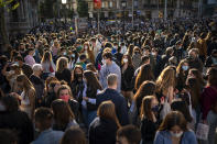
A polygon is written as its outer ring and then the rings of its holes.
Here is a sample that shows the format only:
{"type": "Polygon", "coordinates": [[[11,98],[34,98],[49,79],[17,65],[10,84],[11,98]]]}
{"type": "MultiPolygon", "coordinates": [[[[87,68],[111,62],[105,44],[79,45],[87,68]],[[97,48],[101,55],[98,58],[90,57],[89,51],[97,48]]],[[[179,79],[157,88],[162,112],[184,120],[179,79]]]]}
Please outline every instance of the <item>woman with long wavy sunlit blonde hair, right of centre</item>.
{"type": "Polygon", "coordinates": [[[166,98],[169,103],[173,100],[175,88],[175,68],[167,66],[156,79],[156,93],[160,98],[166,98]]]}

